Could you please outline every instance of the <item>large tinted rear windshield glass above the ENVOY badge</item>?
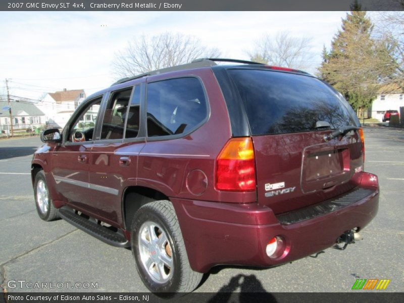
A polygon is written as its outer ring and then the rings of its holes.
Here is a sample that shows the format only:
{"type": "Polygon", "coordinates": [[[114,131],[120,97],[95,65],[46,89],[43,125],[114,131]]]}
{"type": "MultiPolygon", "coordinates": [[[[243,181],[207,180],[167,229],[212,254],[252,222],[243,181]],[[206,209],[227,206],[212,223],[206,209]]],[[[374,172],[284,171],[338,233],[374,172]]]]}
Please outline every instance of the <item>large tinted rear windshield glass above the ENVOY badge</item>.
{"type": "Polygon", "coordinates": [[[264,70],[229,69],[243,100],[252,135],[357,125],[346,101],[319,79],[264,70]]]}

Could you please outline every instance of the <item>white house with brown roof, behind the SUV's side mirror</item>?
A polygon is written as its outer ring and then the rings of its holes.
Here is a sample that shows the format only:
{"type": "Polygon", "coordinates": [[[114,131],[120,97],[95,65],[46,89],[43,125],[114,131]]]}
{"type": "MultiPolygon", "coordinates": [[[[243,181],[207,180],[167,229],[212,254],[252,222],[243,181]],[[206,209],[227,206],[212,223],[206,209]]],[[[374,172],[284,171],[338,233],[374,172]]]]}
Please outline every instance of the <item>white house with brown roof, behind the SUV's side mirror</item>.
{"type": "Polygon", "coordinates": [[[37,106],[45,113],[46,124],[49,127],[63,128],[84,99],[83,89],[65,88],[61,91],[48,92],[37,106]]]}

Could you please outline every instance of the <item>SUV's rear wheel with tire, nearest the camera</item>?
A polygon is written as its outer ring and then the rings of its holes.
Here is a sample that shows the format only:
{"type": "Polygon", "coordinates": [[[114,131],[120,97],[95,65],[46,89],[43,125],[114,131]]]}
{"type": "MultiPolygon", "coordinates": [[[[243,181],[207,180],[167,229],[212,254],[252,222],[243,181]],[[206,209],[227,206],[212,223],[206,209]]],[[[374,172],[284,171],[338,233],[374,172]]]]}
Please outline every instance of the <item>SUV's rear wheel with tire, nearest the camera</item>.
{"type": "Polygon", "coordinates": [[[189,265],[177,215],[168,200],[151,202],[136,212],[131,248],[143,283],[160,296],[190,292],[203,277],[189,265]]]}

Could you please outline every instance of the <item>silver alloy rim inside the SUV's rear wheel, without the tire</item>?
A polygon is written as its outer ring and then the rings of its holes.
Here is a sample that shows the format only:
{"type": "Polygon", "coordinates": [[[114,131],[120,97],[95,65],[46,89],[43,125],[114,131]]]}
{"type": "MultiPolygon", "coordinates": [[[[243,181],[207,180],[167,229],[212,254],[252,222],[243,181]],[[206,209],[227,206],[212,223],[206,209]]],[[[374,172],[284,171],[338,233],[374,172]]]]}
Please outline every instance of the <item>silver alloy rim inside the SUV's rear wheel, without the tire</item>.
{"type": "Polygon", "coordinates": [[[173,249],[166,232],[154,222],[144,222],[139,229],[138,245],[147,274],[156,283],[166,283],[174,270],[173,249]]]}

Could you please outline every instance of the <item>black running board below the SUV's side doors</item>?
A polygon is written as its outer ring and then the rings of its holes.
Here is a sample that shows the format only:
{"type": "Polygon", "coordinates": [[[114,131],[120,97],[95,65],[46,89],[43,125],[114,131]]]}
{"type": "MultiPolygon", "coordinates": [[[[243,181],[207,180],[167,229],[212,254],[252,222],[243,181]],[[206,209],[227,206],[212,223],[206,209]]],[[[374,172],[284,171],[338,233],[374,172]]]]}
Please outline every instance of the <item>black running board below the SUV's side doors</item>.
{"type": "Polygon", "coordinates": [[[122,234],[109,230],[107,227],[85,219],[75,214],[70,208],[66,206],[59,209],[59,215],[70,224],[76,226],[82,231],[85,231],[86,233],[96,237],[97,239],[107,244],[118,247],[130,246],[129,241],[122,234]]]}

